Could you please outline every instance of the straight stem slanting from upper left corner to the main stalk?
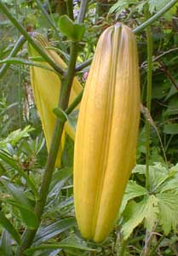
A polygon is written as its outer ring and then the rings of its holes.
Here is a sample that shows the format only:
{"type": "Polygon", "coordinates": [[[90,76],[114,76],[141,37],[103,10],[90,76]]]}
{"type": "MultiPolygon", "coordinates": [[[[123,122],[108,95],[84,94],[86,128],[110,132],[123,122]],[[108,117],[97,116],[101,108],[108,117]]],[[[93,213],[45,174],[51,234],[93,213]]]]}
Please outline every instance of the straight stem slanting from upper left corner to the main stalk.
{"type": "Polygon", "coordinates": [[[63,69],[53,61],[49,55],[46,55],[45,52],[43,51],[43,48],[40,47],[33,39],[32,37],[26,32],[26,29],[20,25],[18,20],[14,18],[13,15],[9,13],[9,9],[0,1],[0,9],[3,11],[5,15],[9,18],[9,20],[14,24],[14,26],[21,32],[21,34],[26,38],[26,41],[28,41],[30,44],[32,44],[32,47],[37,50],[38,54],[43,57],[45,61],[49,63],[51,67],[55,69],[59,74],[63,75],[64,71],[63,69]]]}

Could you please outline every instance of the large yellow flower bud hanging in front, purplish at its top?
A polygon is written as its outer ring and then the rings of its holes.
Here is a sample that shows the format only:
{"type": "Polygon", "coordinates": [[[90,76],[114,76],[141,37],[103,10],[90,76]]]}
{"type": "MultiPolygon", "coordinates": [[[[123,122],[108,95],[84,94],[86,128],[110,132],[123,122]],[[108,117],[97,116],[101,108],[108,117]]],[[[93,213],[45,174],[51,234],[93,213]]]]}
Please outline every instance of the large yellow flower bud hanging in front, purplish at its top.
{"type": "Polygon", "coordinates": [[[140,104],[135,36],[117,24],[100,36],[78,116],[74,202],[84,238],[112,230],[135,166],[140,104]]]}

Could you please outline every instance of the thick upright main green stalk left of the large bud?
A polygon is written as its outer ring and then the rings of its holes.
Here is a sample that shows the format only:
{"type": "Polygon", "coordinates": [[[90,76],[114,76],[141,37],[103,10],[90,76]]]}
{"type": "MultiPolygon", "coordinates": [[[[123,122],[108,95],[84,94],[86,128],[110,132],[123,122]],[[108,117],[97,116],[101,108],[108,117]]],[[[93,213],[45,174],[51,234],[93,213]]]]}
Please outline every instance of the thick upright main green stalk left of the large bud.
{"type": "MultiPolygon", "coordinates": [[[[61,93],[60,93],[60,99],[59,99],[59,108],[62,108],[65,110],[68,105],[69,101],[69,96],[70,96],[70,91],[72,88],[72,80],[75,74],[75,65],[76,65],[76,60],[77,60],[77,55],[78,55],[78,46],[76,43],[72,42],[71,45],[71,58],[69,61],[69,66],[67,68],[67,72],[65,77],[61,81],[61,93]]],[[[39,198],[40,200],[37,201],[36,206],[35,206],[35,214],[37,215],[37,218],[39,219],[39,222],[42,218],[43,215],[43,208],[46,203],[46,199],[49,193],[49,185],[51,182],[51,178],[53,175],[53,171],[55,168],[55,160],[56,156],[59,150],[60,146],[60,139],[63,131],[63,126],[64,123],[60,119],[56,119],[55,122],[55,129],[49,149],[49,156],[47,160],[47,164],[44,169],[44,174],[43,174],[43,180],[42,184],[39,190],[39,198]]],[[[22,245],[20,249],[18,250],[17,255],[24,255],[24,251],[26,248],[31,247],[32,241],[37,233],[36,230],[29,230],[27,229],[23,238],[22,238],[22,245]]]]}

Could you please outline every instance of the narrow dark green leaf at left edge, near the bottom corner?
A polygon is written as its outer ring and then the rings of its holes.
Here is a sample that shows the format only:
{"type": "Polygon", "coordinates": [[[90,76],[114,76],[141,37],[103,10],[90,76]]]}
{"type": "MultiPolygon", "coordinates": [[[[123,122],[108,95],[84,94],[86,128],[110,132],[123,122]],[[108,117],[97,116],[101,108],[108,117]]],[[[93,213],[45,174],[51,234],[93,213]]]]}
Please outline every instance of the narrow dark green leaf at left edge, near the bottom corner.
{"type": "Polygon", "coordinates": [[[2,211],[0,211],[0,223],[3,225],[4,229],[9,232],[9,234],[17,241],[18,244],[21,243],[20,235],[15,230],[14,225],[10,223],[9,219],[5,217],[2,211]]]}

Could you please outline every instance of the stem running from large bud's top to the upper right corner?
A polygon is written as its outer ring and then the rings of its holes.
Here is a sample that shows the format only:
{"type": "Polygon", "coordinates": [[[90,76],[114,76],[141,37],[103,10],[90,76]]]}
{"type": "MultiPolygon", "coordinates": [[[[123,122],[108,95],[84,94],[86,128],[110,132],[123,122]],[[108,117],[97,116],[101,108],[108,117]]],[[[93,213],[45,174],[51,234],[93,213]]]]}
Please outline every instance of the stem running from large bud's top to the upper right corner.
{"type": "Polygon", "coordinates": [[[155,20],[158,20],[162,15],[164,15],[169,9],[171,9],[175,3],[178,3],[177,0],[171,0],[169,3],[167,3],[163,9],[160,9],[156,15],[153,15],[151,18],[146,20],[144,23],[141,24],[141,26],[137,26],[133,32],[138,33],[143,31],[146,26],[150,26],[155,20]]]}

